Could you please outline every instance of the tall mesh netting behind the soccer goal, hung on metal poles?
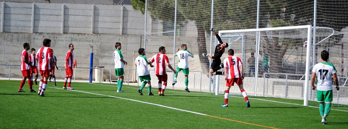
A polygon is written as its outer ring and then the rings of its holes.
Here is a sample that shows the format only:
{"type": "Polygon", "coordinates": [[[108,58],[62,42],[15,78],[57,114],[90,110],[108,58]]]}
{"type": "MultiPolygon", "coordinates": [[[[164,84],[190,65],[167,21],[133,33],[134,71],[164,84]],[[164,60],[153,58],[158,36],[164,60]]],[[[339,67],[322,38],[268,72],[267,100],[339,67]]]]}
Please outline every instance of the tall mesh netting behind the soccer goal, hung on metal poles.
{"type": "MultiPolygon", "coordinates": [[[[328,50],[330,52],[329,62],[332,63],[338,70],[341,89],[339,94],[340,101],[336,103],[348,104],[348,88],[346,82],[348,74],[348,46],[346,45],[345,34],[347,33],[348,24],[345,22],[348,10],[346,9],[348,1],[328,1],[321,0],[314,3],[312,0],[267,0],[260,2],[259,21],[258,3],[251,0],[215,0],[212,13],[211,0],[177,0],[177,15],[175,18],[175,1],[173,0],[147,0],[146,14],[146,29],[145,29],[145,44],[144,48],[147,51],[147,58],[158,53],[160,46],[166,47],[166,54],[169,57],[169,62],[175,68],[177,59],[174,59],[176,49],[179,49],[182,44],[187,44],[188,50],[195,55],[189,59],[189,68],[192,71],[202,71],[202,91],[214,91],[214,85],[211,80],[206,77],[209,68],[209,60],[201,56],[202,53],[214,54],[215,36],[209,32],[209,28],[213,27],[219,30],[236,30],[236,29],[253,29],[253,28],[270,28],[284,26],[300,26],[313,25],[319,27],[330,27],[334,29],[334,35],[330,38],[317,44],[315,50],[311,51],[311,66],[320,62],[320,52],[328,50]],[[314,4],[317,8],[314,8],[314,4]],[[317,10],[316,19],[314,20],[314,9],[317,10]],[[213,14],[213,15],[212,15],[213,14]],[[212,18],[213,16],[213,18],[212,18]],[[176,19],[176,24],[175,23],[176,19]],[[213,19],[213,20],[211,20],[213,19]],[[213,26],[211,23],[213,22],[213,26]],[[256,27],[258,23],[258,27],[256,27]],[[176,30],[174,31],[174,27],[176,30]],[[174,34],[175,39],[174,39],[174,34]],[[313,54],[314,53],[314,54],[313,54]],[[209,85],[211,84],[211,85],[209,85]],[[343,88],[342,88],[343,87],[343,88]]],[[[314,31],[313,31],[314,32],[314,31]]],[[[332,31],[326,29],[316,29],[315,42],[323,40],[330,35],[332,31]]],[[[233,35],[223,34],[223,35],[233,35]]],[[[243,38],[223,38],[223,42],[233,42],[229,48],[234,49],[237,56],[243,58],[244,73],[250,80],[244,80],[244,88],[249,95],[255,94],[255,84],[252,74],[248,72],[248,58],[251,57],[251,52],[256,55],[256,32],[242,34],[243,38]],[[243,45],[244,43],[244,45],[243,45]],[[242,46],[244,48],[242,49],[242,46]]],[[[273,96],[284,98],[303,99],[303,80],[301,75],[304,74],[306,48],[303,43],[307,38],[306,29],[289,29],[282,31],[268,31],[260,33],[260,50],[266,50],[269,54],[269,78],[261,78],[257,87],[268,85],[270,87],[263,90],[256,90],[257,96],[273,96]],[[278,75],[288,74],[288,75],[278,75]],[[270,81],[270,79],[279,79],[278,81],[270,81]],[[280,89],[272,90],[275,87],[280,89]],[[293,92],[289,92],[293,90],[293,92]],[[296,91],[297,90],[297,91],[296,91]]],[[[313,39],[312,39],[313,40],[313,39]]],[[[224,53],[223,57],[226,58],[224,53]]],[[[259,70],[262,70],[260,65],[259,70]]],[[[167,68],[168,69],[168,68],[167,68]]],[[[179,75],[180,76],[183,76],[179,75]]],[[[156,77],[155,77],[156,78],[156,77]]],[[[193,78],[189,77],[189,88],[193,78]]],[[[246,79],[247,79],[246,78],[246,79]]],[[[172,75],[168,73],[168,84],[171,83],[172,75]]],[[[183,80],[183,79],[181,79],[183,80]]],[[[180,79],[178,79],[180,81],[180,79]]],[[[224,91],[224,80],[219,80],[219,91],[224,91]]],[[[184,83],[177,83],[175,87],[180,87],[184,83]],[[178,85],[179,84],[179,85],[178,85]]],[[[174,88],[175,88],[174,87],[174,88]]],[[[240,94],[238,87],[232,94],[240,94]]],[[[231,91],[232,91],[231,88],[231,91]]],[[[309,100],[316,101],[315,94],[310,90],[309,100]],[[314,96],[314,97],[311,97],[314,96]]],[[[335,101],[335,100],[334,100],[335,101]]]]}

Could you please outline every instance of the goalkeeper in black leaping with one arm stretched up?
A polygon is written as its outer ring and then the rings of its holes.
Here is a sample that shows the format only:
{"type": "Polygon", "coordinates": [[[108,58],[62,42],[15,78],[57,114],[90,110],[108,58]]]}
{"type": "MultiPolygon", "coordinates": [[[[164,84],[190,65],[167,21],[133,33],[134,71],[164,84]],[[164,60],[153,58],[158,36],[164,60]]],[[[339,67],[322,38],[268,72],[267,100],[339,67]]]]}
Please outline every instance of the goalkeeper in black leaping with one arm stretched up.
{"type": "MultiPolygon", "coordinates": [[[[228,44],[222,42],[221,37],[216,33],[214,28],[210,28],[209,30],[211,32],[214,32],[217,40],[219,41],[219,44],[217,44],[215,47],[214,56],[209,55],[207,53],[203,53],[203,57],[209,57],[209,58],[213,59],[213,62],[210,65],[209,73],[211,73],[213,75],[223,75],[222,71],[217,71],[217,70],[223,68],[223,64],[221,64],[220,58],[221,58],[223,52],[225,52],[225,48],[228,47],[228,44]]],[[[209,73],[207,74],[207,76],[209,76],[209,73]]]]}

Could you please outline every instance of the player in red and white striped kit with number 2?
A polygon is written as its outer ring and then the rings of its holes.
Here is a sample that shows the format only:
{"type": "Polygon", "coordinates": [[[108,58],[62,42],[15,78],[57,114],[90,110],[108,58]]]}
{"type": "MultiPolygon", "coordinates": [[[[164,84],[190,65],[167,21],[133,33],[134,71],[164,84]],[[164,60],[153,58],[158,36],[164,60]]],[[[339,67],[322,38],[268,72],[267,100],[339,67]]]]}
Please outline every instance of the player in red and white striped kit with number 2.
{"type": "Polygon", "coordinates": [[[164,96],[164,91],[167,87],[167,79],[168,75],[166,72],[166,65],[171,69],[174,74],[176,74],[176,71],[173,69],[171,64],[169,63],[166,53],[166,48],[164,46],[159,47],[158,49],[159,53],[153,55],[151,59],[151,63],[155,62],[155,74],[158,78],[158,95],[164,96]],[[162,88],[162,81],[163,81],[163,88],[162,88]]]}

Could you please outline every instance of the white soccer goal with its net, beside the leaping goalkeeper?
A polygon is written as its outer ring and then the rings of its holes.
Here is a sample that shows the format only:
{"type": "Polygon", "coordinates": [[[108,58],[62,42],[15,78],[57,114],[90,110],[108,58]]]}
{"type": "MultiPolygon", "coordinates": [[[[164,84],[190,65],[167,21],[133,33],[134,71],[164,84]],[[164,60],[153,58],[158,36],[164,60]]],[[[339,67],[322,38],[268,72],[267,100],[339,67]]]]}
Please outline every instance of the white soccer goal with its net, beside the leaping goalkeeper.
{"type": "MultiPolygon", "coordinates": [[[[247,94],[303,99],[306,106],[308,98],[316,98],[310,76],[311,67],[320,59],[312,54],[316,50],[312,45],[329,42],[326,39],[333,33],[332,28],[311,25],[219,31],[221,37],[243,35],[242,42],[230,44],[229,49],[243,61],[247,94]]],[[[220,79],[223,83],[224,78],[220,79]]],[[[223,92],[224,85],[216,89],[216,93],[223,92]]],[[[238,86],[231,87],[230,93],[240,94],[238,86]]]]}

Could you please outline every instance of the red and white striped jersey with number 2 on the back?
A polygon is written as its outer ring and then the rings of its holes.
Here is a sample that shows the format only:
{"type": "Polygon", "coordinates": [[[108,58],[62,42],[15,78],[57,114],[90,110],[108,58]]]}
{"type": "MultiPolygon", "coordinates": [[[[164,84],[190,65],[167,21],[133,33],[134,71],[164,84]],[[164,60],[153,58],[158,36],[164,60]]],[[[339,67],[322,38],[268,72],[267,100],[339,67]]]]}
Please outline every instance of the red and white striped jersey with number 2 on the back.
{"type": "Polygon", "coordinates": [[[169,65],[169,60],[167,55],[165,54],[156,54],[153,55],[151,62],[155,62],[155,74],[156,75],[165,75],[166,72],[166,65],[169,65]]]}

